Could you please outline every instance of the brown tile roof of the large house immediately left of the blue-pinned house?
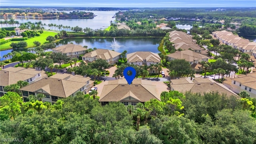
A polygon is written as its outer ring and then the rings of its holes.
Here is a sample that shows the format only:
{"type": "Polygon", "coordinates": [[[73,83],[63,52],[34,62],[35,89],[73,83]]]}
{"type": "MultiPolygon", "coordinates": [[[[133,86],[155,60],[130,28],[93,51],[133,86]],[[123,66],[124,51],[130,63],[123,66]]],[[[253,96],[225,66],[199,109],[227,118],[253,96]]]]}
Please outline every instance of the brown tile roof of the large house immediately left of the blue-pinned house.
{"type": "Polygon", "coordinates": [[[21,88],[21,90],[36,92],[42,89],[52,96],[67,98],[85,85],[86,84],[82,82],[61,80],[56,78],[43,78],[41,80],[38,80],[37,82],[21,88]]]}

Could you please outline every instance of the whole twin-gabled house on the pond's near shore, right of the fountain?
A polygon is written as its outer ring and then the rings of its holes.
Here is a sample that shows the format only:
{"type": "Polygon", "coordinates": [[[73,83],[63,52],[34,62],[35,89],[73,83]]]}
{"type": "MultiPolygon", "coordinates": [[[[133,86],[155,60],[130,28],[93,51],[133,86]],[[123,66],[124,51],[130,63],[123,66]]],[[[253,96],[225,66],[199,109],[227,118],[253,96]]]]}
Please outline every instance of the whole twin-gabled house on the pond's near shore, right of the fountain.
{"type": "Polygon", "coordinates": [[[158,64],[161,62],[161,58],[154,52],[133,52],[126,54],[127,62],[138,66],[150,64],[158,64]]]}

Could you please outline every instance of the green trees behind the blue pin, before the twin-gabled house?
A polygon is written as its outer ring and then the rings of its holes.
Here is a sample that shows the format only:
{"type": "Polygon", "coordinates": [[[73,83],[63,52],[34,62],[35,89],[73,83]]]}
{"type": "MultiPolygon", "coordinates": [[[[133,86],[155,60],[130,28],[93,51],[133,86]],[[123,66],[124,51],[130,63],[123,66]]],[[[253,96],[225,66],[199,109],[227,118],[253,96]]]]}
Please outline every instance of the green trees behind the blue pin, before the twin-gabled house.
{"type": "MultiPolygon", "coordinates": [[[[138,78],[139,76],[141,76],[143,79],[145,79],[148,75],[150,75],[149,77],[151,77],[152,73],[155,73],[157,76],[157,78],[160,76],[160,72],[162,71],[162,67],[163,64],[162,63],[158,63],[158,64],[150,64],[150,66],[144,65],[144,66],[137,66],[134,64],[121,64],[120,66],[117,66],[117,69],[115,70],[115,73],[113,74],[113,77],[120,78],[123,77],[123,71],[126,67],[131,66],[136,70],[136,78],[138,78]]],[[[129,71],[128,71],[129,72],[129,71]]],[[[129,75],[129,74],[128,74],[129,75]]],[[[156,77],[155,75],[155,77],[156,77]]]]}

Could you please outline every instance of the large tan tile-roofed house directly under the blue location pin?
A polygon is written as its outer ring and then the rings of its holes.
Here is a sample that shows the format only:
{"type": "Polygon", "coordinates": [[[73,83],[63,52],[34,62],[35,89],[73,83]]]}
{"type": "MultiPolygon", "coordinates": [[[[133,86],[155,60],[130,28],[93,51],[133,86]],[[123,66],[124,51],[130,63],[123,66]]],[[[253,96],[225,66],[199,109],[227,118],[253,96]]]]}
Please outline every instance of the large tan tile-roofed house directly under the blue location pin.
{"type": "Polygon", "coordinates": [[[136,106],[139,102],[144,103],[151,99],[161,101],[154,82],[134,79],[129,85],[125,79],[118,79],[110,80],[103,86],[99,102],[102,105],[108,104],[108,102],[122,102],[125,106],[136,106]]]}

